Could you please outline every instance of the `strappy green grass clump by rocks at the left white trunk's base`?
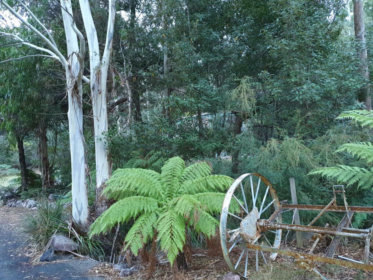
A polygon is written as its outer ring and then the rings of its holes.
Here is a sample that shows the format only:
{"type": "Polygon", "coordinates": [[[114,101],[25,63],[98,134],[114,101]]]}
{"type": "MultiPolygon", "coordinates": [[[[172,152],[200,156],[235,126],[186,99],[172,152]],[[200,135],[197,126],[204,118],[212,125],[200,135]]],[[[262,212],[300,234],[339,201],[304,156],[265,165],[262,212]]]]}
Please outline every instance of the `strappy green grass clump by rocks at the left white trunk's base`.
{"type": "Polygon", "coordinates": [[[39,251],[47,249],[50,239],[57,234],[63,234],[78,243],[77,253],[89,255],[91,258],[103,261],[105,253],[102,242],[78,234],[70,222],[70,214],[63,202],[55,203],[38,197],[37,211],[26,215],[21,231],[29,237],[28,241],[35,244],[39,251]]]}

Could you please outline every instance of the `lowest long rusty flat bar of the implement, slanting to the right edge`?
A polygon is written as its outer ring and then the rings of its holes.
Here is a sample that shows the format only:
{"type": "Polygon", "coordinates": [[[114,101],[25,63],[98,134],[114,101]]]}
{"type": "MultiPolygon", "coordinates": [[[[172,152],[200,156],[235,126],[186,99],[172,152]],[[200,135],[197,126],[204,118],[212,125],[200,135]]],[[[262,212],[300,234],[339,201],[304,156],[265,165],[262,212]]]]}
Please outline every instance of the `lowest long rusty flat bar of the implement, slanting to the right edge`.
{"type": "Polygon", "coordinates": [[[250,244],[250,243],[247,243],[246,246],[247,248],[251,250],[258,249],[258,250],[262,250],[266,252],[279,253],[282,255],[292,256],[293,258],[296,258],[296,259],[299,259],[302,256],[305,259],[309,259],[310,261],[320,261],[320,262],[325,262],[327,264],[336,264],[336,265],[341,265],[343,267],[358,268],[358,269],[373,271],[372,264],[360,264],[356,262],[345,261],[342,259],[327,258],[324,256],[319,256],[319,255],[310,255],[310,254],[303,253],[303,252],[294,252],[290,250],[268,247],[268,246],[263,246],[263,245],[255,245],[255,244],[250,244]]]}

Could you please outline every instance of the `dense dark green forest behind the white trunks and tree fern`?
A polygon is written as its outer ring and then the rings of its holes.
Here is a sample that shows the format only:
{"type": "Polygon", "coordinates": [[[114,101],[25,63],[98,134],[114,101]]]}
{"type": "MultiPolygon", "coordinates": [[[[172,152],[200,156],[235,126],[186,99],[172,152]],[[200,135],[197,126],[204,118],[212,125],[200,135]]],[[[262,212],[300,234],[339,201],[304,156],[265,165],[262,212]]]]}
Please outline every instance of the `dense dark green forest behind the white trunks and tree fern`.
{"type": "MultiPolygon", "coordinates": [[[[18,1],[0,3],[12,6],[35,27],[40,21],[66,56],[58,2],[30,0],[26,7],[18,1]]],[[[102,53],[110,6],[106,1],[90,4],[102,53]]],[[[80,133],[91,212],[98,182],[95,149],[100,143],[106,147],[109,175],[126,170],[122,168],[161,173],[163,163],[173,157],[186,164],[204,160],[214,174],[263,174],[280,200],[291,201],[289,178],[294,177],[301,204],[326,205],[331,187],[347,185],[353,176],[347,172],[341,178],[319,168],[357,167],[372,174],[372,157],[361,156],[361,149],[372,155],[372,145],[365,143],[372,140],[372,116],[364,115],[368,120],[357,123],[356,118],[336,119],[345,111],[371,109],[371,83],[362,69],[373,71],[373,6],[371,1],[363,4],[365,42],[355,36],[352,1],[116,1],[107,83],[100,82],[107,85],[105,133],[95,130],[97,104],[93,105],[90,85],[82,83],[80,133]],[[365,144],[355,150],[339,148],[355,142],[365,144]]],[[[64,195],[71,190],[75,172],[65,70],[51,57],[29,57],[40,50],[5,35],[17,34],[47,47],[9,9],[0,7],[0,60],[9,60],[0,64],[0,172],[12,178],[4,181],[1,193],[9,195],[19,184],[17,192],[24,198],[64,195]],[[24,58],[15,60],[18,57],[24,58]]],[[[78,1],[72,1],[72,11],[88,50],[78,1]]],[[[93,81],[101,70],[94,72],[91,55],[86,52],[81,67],[84,77],[93,81]]],[[[348,203],[371,206],[371,186],[368,179],[361,184],[354,180],[347,189],[348,203]]],[[[333,224],[333,215],[323,215],[319,223],[333,224]]],[[[371,224],[367,215],[355,216],[355,226],[371,224]]],[[[107,226],[95,233],[103,229],[107,226]]]]}

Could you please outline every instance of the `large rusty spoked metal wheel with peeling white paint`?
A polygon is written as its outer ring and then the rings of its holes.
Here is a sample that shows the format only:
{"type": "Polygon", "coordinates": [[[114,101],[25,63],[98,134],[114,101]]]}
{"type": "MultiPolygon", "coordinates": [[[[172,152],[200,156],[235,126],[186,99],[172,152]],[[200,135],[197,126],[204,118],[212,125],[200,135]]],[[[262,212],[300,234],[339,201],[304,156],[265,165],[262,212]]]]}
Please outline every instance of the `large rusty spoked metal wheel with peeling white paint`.
{"type": "MultiPolygon", "coordinates": [[[[224,259],[234,273],[247,277],[248,260],[253,252],[246,243],[279,248],[282,230],[266,231],[264,234],[256,226],[258,219],[269,218],[279,205],[272,184],[260,174],[243,174],[229,188],[220,216],[220,243],[224,259]]],[[[282,223],[281,215],[276,219],[282,223]]],[[[271,253],[270,258],[276,258],[276,255],[271,253]]],[[[262,251],[256,250],[255,258],[256,270],[261,259],[267,263],[262,251]]]]}

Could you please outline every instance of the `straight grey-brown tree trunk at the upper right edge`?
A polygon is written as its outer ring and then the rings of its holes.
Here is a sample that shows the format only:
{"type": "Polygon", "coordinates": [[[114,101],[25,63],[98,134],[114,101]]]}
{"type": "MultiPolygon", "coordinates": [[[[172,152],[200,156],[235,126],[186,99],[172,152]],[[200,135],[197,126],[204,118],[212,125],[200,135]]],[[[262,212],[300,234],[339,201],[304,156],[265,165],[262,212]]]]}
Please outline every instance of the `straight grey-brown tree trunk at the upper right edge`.
{"type": "Polygon", "coordinates": [[[364,25],[364,10],[362,0],[353,0],[354,3],[354,29],[355,38],[360,43],[359,58],[360,58],[360,74],[366,80],[366,85],[358,91],[358,100],[364,102],[368,111],[372,110],[372,99],[370,97],[369,86],[369,69],[367,47],[365,41],[365,25],[364,25]]]}

